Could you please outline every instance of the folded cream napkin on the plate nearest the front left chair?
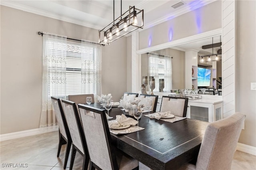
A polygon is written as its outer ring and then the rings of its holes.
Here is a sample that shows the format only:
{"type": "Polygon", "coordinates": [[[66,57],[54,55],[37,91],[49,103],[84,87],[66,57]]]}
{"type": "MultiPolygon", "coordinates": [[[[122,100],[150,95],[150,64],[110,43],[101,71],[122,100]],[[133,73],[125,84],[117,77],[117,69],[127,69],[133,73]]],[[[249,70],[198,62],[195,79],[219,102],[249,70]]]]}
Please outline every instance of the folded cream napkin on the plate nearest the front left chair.
{"type": "Polygon", "coordinates": [[[118,128],[118,127],[124,127],[127,125],[136,125],[137,121],[130,118],[130,117],[126,117],[124,114],[122,115],[116,115],[116,121],[111,121],[108,122],[108,127],[109,128],[118,128]]]}

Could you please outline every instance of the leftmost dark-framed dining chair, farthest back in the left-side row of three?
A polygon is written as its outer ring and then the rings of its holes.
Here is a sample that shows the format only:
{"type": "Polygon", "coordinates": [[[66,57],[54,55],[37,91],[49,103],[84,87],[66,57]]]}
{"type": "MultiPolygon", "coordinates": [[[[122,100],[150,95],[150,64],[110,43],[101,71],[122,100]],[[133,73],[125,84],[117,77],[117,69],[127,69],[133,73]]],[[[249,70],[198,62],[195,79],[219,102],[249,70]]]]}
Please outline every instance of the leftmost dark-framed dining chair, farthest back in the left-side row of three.
{"type": "Polygon", "coordinates": [[[63,113],[62,101],[53,96],[51,98],[52,98],[52,105],[53,105],[56,119],[57,119],[58,126],[59,126],[59,144],[58,144],[57,157],[60,156],[61,146],[63,144],[67,144],[65,158],[64,158],[64,166],[63,166],[63,168],[66,169],[67,162],[68,162],[68,156],[69,156],[69,152],[70,152],[70,148],[71,148],[71,144],[72,144],[72,139],[70,136],[70,132],[68,129],[65,115],[63,113]]]}

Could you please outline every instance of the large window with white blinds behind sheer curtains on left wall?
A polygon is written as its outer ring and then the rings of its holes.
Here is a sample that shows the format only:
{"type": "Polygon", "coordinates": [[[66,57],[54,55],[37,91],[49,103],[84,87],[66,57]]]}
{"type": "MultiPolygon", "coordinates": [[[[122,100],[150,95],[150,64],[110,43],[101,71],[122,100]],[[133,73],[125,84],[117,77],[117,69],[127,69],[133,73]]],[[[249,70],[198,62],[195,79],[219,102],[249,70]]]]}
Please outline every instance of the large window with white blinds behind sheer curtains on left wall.
{"type": "Polygon", "coordinates": [[[49,76],[54,77],[56,81],[48,82],[49,96],[66,98],[68,95],[96,95],[97,88],[101,88],[97,85],[101,79],[98,75],[100,65],[97,61],[97,55],[100,55],[99,45],[67,41],[66,51],[63,51],[61,43],[48,41],[48,44],[48,56],[52,58],[49,61],[49,76]]]}

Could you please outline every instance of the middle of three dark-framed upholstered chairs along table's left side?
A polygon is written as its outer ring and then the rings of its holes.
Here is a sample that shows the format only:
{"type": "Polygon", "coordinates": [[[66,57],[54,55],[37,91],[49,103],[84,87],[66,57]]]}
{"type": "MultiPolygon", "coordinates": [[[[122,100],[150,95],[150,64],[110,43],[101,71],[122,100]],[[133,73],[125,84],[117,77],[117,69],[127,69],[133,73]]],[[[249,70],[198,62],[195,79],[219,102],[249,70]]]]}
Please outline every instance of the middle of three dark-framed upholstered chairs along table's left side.
{"type": "Polygon", "coordinates": [[[84,157],[83,170],[87,170],[90,157],[88,153],[88,148],[85,144],[85,136],[76,103],[68,100],[62,100],[62,106],[70,131],[70,136],[72,138],[70,170],[72,170],[73,168],[76,151],[78,151],[84,157]]]}

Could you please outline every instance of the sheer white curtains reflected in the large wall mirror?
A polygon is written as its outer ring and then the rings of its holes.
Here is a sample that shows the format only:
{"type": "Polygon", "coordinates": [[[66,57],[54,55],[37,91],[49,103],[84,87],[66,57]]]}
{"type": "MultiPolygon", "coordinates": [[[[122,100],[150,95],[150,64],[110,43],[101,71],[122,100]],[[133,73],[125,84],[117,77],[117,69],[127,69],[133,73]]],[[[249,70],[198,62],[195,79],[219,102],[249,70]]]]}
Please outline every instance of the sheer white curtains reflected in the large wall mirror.
{"type": "Polygon", "coordinates": [[[164,79],[164,91],[170,92],[172,89],[172,58],[148,53],[148,76],[154,76],[154,91],[159,91],[159,79],[164,79]]]}

